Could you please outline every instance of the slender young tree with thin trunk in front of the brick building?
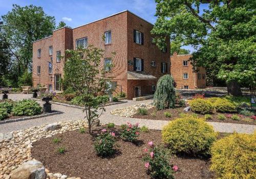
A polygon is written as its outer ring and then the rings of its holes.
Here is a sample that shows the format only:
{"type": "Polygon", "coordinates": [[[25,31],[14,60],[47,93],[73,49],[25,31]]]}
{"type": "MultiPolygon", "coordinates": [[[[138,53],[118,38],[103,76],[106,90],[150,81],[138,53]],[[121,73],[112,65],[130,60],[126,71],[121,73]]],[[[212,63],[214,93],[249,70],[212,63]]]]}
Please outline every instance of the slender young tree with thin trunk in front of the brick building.
{"type": "MultiPolygon", "coordinates": [[[[67,50],[68,56],[64,68],[62,84],[64,88],[74,89],[86,113],[88,129],[91,133],[92,123],[105,111],[102,104],[109,99],[111,71],[100,69],[103,50],[88,46],[86,49],[67,50]]],[[[111,66],[111,65],[110,65],[111,66]]],[[[109,67],[109,66],[108,66],[109,67]]]]}

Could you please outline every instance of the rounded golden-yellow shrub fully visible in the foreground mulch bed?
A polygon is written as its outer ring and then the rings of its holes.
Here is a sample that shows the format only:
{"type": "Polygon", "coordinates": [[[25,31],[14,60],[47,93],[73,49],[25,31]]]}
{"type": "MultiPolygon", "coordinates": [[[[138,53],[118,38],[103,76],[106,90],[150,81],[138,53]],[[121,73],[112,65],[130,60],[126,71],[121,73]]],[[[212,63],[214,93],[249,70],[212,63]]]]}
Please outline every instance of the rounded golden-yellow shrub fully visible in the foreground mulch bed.
{"type": "Polygon", "coordinates": [[[163,142],[176,153],[207,155],[216,137],[211,125],[188,115],[169,122],[162,130],[163,142]]]}

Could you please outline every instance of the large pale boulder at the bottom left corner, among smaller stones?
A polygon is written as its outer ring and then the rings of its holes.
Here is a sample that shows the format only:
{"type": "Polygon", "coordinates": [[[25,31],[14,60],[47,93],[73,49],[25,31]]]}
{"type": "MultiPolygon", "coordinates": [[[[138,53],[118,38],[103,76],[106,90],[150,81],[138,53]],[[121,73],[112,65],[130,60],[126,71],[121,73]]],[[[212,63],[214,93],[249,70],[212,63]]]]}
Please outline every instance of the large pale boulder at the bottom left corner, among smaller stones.
{"type": "Polygon", "coordinates": [[[11,179],[45,179],[46,170],[41,162],[32,160],[13,170],[10,176],[11,179]]]}

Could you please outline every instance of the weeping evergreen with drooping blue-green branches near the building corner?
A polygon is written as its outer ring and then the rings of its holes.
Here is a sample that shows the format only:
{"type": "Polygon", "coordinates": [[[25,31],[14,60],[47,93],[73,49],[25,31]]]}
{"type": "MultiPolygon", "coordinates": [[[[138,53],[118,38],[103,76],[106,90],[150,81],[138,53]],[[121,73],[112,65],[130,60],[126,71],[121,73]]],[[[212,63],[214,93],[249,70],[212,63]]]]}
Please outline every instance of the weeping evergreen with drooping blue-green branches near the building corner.
{"type": "Polygon", "coordinates": [[[175,88],[174,79],[170,75],[164,75],[157,82],[157,90],[154,95],[154,104],[157,109],[174,108],[175,88]]]}

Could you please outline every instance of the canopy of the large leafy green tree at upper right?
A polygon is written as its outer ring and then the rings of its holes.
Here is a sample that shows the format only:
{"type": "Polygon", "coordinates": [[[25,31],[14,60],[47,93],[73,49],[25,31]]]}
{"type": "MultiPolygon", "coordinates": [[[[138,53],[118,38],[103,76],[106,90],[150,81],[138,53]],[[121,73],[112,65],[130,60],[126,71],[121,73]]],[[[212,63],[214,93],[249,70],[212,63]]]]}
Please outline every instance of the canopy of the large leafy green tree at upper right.
{"type": "Polygon", "coordinates": [[[253,0],[156,0],[152,32],[160,48],[165,38],[197,49],[191,62],[207,75],[225,80],[228,93],[241,95],[240,85],[255,86],[256,2],[253,0]]]}

